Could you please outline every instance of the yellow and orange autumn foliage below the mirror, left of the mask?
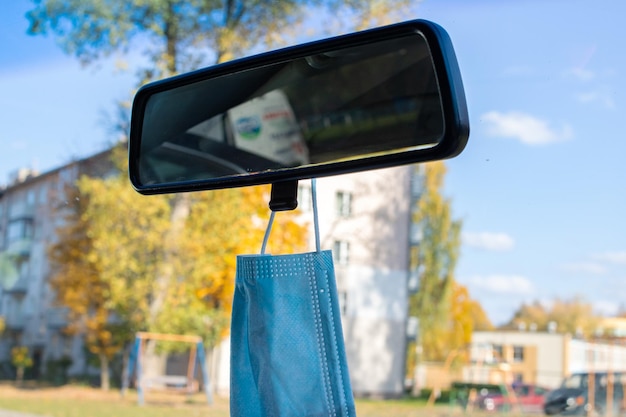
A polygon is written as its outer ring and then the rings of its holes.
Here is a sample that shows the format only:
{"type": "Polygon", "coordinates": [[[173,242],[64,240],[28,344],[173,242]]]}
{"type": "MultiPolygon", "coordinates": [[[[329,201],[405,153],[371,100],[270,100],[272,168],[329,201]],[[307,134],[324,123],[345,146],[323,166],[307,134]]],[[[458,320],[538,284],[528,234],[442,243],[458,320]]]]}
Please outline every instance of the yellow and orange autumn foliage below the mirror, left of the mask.
{"type": "MultiPolygon", "coordinates": [[[[114,155],[119,164],[121,148],[114,155]]],[[[83,332],[101,360],[137,331],[196,334],[206,346],[226,335],[236,255],[260,250],[269,188],[184,196],[188,211],[176,219],[179,196],[142,196],[123,175],[83,176],[68,190],[50,284],[69,309],[68,330],[83,332]]],[[[277,224],[276,250],[304,249],[296,214],[277,224]]]]}

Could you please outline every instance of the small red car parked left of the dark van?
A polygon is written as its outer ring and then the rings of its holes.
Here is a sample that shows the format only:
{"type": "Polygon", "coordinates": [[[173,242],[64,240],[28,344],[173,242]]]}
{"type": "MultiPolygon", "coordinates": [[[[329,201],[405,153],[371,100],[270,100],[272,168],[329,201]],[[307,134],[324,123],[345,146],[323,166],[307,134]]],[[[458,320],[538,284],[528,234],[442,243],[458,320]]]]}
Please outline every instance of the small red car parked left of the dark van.
{"type": "Polygon", "coordinates": [[[548,390],[532,384],[515,384],[511,393],[489,392],[477,398],[486,411],[507,411],[519,407],[522,412],[542,412],[548,390]]]}

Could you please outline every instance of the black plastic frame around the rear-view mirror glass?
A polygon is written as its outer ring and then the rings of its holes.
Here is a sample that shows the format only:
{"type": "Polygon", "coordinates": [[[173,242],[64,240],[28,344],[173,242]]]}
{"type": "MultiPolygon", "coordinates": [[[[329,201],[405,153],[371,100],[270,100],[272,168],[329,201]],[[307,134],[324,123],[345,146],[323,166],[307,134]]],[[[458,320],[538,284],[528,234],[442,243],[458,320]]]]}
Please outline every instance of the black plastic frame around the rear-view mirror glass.
{"type": "Polygon", "coordinates": [[[141,194],[164,194],[273,184],[276,182],[297,181],[417,162],[448,159],[461,153],[467,144],[468,137],[469,117],[465,93],[452,42],[447,32],[436,23],[427,20],[412,20],[237,59],[165,80],[156,81],[141,87],[135,96],[132,108],[129,143],[129,177],[135,190],[141,194]],[[329,49],[342,49],[364,45],[373,41],[392,39],[415,33],[422,34],[426,39],[441,93],[445,126],[443,137],[436,146],[429,149],[418,149],[390,155],[366,157],[358,160],[302,166],[273,172],[258,172],[245,176],[218,177],[159,185],[141,184],[139,177],[139,154],[143,114],[148,100],[153,94],[209,78],[261,67],[276,62],[284,62],[315,55],[329,49]]]}

